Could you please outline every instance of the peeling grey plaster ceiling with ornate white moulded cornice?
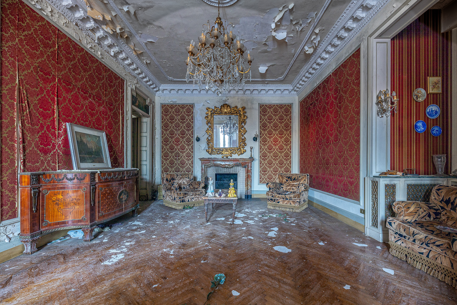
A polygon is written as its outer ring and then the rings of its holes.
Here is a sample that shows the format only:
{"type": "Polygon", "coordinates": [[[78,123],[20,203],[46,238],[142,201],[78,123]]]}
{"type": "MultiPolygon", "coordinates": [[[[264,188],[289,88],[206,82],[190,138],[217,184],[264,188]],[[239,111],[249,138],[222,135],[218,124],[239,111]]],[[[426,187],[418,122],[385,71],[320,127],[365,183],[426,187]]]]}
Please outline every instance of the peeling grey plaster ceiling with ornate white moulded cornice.
{"type": "MultiPolygon", "coordinates": [[[[220,15],[254,56],[247,84],[289,88],[295,95],[387,1],[222,0],[220,15]]],[[[96,43],[110,48],[154,93],[187,85],[186,46],[198,41],[203,23],[213,24],[218,16],[214,0],[48,2],[82,21],[96,43]]]]}

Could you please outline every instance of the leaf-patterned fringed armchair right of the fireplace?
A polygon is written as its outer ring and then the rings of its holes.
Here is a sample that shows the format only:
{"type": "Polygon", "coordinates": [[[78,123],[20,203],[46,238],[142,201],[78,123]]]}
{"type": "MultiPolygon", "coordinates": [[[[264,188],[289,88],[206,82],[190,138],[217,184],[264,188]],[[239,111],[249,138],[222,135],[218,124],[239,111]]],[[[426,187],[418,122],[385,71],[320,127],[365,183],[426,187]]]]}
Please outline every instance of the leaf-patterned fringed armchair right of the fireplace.
{"type": "Polygon", "coordinates": [[[309,174],[278,174],[268,182],[268,209],[301,212],[308,207],[309,174]]]}

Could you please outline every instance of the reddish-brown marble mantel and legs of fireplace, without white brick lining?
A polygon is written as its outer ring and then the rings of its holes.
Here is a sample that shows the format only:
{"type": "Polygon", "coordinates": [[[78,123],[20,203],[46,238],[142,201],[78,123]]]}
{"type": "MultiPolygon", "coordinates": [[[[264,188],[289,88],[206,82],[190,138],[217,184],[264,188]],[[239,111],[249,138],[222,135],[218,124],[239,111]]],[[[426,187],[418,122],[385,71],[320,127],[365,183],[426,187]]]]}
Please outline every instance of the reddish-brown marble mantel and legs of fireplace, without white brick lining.
{"type": "Polygon", "coordinates": [[[205,184],[208,184],[208,168],[212,166],[230,168],[234,166],[241,166],[244,168],[244,198],[252,198],[252,161],[254,158],[199,158],[202,162],[202,180],[204,179],[205,184]]]}

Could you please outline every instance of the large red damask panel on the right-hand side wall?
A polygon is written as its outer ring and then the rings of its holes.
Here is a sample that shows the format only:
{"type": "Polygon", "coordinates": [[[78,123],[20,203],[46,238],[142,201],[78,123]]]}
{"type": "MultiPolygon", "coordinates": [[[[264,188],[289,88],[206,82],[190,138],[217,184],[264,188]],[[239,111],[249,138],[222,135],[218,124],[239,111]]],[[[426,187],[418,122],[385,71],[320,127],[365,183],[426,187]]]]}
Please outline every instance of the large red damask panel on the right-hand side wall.
{"type": "Polygon", "coordinates": [[[300,102],[300,172],[310,187],[360,200],[360,49],[300,102]]]}

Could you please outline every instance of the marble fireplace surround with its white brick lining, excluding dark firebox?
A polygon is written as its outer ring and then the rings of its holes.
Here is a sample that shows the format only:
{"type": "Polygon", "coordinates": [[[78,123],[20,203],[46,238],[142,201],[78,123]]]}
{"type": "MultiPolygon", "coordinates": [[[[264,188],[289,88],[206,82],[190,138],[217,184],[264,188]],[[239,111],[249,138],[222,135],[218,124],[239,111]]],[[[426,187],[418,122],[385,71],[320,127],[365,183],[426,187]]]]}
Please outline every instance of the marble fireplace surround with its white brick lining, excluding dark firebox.
{"type": "Polygon", "coordinates": [[[254,158],[199,158],[202,162],[202,181],[216,181],[216,174],[236,174],[238,198],[252,198],[252,161],[254,158]],[[244,182],[244,183],[243,183],[244,182]]]}

